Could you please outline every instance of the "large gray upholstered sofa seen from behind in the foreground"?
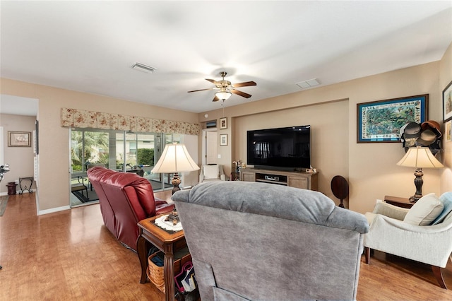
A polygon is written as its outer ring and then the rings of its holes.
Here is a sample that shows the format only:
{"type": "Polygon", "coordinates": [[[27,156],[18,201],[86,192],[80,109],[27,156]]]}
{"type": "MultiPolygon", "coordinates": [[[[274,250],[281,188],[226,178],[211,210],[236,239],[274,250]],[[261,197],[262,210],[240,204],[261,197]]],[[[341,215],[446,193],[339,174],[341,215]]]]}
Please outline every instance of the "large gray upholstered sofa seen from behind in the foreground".
{"type": "Polygon", "coordinates": [[[177,191],[201,300],[355,300],[366,218],[257,182],[177,191]]]}

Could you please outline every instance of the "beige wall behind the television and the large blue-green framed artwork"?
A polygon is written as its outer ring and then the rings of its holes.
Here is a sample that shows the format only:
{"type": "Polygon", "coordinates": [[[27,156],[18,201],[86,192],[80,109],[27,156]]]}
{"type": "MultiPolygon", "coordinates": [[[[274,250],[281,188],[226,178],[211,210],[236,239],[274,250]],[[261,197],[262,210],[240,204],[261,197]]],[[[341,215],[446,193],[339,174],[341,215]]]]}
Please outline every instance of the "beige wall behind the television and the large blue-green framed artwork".
{"type": "MultiPolygon", "coordinates": [[[[218,163],[225,165],[225,172],[230,172],[232,160],[246,157],[248,129],[311,124],[312,165],[320,171],[319,190],[336,203],[338,200],[330,188],[334,175],[343,175],[349,180],[349,206],[353,211],[371,211],[376,199],[383,199],[385,195],[412,196],[415,193],[414,168],[396,165],[405,155],[401,143],[356,142],[357,103],[429,94],[429,119],[442,124],[441,90],[452,80],[451,52],[449,47],[441,61],[430,64],[269,98],[259,101],[258,105],[247,102],[226,107],[229,126],[219,134],[230,135],[230,146],[220,147],[222,158],[218,163]]],[[[206,120],[206,113],[208,120],[223,115],[222,109],[202,112],[199,114],[201,122],[206,120]]],[[[424,170],[424,194],[439,195],[452,189],[450,144],[446,143],[445,153],[440,158],[446,162],[446,168],[424,170]]]]}

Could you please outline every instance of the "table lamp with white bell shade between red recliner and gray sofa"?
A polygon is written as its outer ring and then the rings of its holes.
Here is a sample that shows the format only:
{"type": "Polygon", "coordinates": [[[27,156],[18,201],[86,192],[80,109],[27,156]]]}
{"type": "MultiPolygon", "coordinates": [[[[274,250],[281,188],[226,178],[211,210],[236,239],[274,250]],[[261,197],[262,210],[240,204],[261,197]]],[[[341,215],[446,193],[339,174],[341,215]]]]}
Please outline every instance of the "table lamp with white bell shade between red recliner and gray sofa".
{"type": "Polygon", "coordinates": [[[179,188],[181,179],[178,172],[191,172],[198,169],[198,165],[190,157],[189,151],[186,150],[185,145],[172,143],[165,146],[162,156],[151,172],[167,174],[174,173],[174,177],[171,181],[173,186],[171,194],[174,194],[174,192],[181,190],[179,188]]]}

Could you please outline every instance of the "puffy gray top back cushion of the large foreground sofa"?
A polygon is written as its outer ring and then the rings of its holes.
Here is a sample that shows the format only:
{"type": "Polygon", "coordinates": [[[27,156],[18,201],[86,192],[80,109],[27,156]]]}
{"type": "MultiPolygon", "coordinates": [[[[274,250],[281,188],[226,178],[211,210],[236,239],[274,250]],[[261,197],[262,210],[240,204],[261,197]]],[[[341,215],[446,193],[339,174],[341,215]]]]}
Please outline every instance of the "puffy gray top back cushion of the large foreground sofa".
{"type": "Polygon", "coordinates": [[[228,211],[369,232],[369,223],[364,215],[335,206],[333,200],[319,191],[260,182],[213,181],[177,191],[172,199],[228,211]]]}

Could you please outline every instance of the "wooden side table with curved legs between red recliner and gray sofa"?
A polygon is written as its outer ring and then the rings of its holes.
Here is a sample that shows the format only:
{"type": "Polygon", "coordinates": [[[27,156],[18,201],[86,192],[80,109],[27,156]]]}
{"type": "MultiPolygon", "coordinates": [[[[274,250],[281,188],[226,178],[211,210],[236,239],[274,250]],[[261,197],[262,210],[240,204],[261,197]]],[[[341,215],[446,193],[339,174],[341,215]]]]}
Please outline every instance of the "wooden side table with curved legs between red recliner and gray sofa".
{"type": "MultiPolygon", "coordinates": [[[[161,215],[160,215],[161,216],[161,215]]],[[[138,223],[140,236],[136,241],[136,251],[141,263],[140,283],[146,283],[148,276],[148,244],[150,242],[165,254],[163,278],[165,281],[165,301],[174,300],[174,252],[186,247],[184,230],[171,233],[155,225],[154,220],[160,216],[146,218],[138,223]]]]}

